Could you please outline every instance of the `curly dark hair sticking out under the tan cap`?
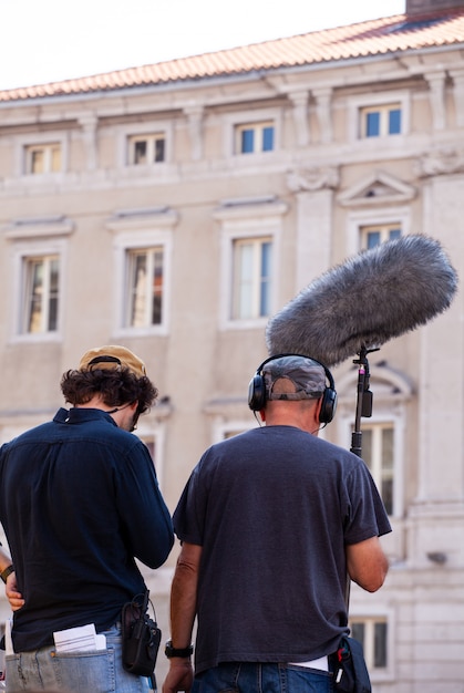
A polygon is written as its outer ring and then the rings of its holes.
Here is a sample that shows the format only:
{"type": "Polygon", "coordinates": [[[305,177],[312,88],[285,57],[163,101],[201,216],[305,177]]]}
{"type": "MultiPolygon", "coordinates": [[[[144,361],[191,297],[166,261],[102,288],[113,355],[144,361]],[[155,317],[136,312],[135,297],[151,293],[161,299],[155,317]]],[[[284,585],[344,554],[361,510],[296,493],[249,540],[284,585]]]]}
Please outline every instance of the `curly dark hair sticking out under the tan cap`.
{"type": "Polygon", "coordinates": [[[70,370],[61,379],[61,392],[70,404],[86,404],[101,395],[107,406],[138,402],[137,415],[146,412],[158,396],[155,385],[145,375],[138,377],[128,369],[70,370]]]}

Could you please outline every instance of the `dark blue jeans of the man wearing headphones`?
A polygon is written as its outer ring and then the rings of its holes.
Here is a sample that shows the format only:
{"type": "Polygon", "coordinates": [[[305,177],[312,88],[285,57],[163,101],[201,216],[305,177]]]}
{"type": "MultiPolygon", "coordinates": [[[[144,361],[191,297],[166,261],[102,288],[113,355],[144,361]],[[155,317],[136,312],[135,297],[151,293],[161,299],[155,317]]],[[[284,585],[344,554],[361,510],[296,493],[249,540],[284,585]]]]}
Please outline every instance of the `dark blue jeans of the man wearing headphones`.
{"type": "Polygon", "coordinates": [[[327,671],[296,664],[219,664],[195,676],[192,693],[332,693],[327,671]]]}

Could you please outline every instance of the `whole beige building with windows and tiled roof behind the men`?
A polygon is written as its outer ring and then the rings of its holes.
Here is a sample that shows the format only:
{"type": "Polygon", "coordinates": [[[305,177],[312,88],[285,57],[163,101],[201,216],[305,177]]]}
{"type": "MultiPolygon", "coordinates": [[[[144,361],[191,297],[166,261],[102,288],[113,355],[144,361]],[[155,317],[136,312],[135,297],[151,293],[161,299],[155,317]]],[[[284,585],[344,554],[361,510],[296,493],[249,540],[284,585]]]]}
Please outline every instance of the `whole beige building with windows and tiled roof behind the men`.
{"type": "MultiPolygon", "coordinates": [[[[122,343],[159,389],[137,434],[174,509],[202,452],[258,425],[248,382],[269,317],[299,290],[417,232],[462,276],[463,49],[464,2],[411,0],[401,15],[0,92],[0,442],[54,414],[86,349],[122,343]]],[[[464,692],[462,288],[370,370],[363,457],[391,570],[375,594],[353,586],[353,632],[375,693],[464,692]]],[[[357,368],[333,375],[322,435],[349,447],[357,368]]],[[[146,572],[166,637],[175,556],[146,572]]]]}

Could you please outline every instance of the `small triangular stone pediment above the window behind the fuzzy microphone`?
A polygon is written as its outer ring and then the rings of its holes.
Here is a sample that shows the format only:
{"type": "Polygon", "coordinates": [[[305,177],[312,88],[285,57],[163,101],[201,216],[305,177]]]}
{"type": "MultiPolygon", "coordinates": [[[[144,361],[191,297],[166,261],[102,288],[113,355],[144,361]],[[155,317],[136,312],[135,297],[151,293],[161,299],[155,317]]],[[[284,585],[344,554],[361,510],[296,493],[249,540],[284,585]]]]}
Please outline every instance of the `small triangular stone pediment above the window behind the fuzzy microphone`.
{"type": "Polygon", "coordinates": [[[338,200],[342,207],[405,203],[415,197],[415,188],[394,176],[375,170],[341,193],[338,200]]]}

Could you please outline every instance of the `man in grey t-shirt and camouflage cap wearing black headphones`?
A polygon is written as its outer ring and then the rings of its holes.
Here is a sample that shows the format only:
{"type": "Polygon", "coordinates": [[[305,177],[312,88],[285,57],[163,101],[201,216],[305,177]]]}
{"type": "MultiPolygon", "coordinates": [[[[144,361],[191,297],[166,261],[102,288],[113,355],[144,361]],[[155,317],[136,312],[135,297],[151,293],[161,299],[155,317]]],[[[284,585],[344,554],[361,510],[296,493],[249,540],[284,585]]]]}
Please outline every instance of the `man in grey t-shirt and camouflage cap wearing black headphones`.
{"type": "Polygon", "coordinates": [[[182,551],[164,693],[254,692],[259,681],[331,690],[347,573],[378,590],[388,571],[379,537],[391,531],[363,461],[318,438],[336,402],[322,364],[271,358],[249,395],[266,426],[213,445],[193,470],[174,514],[182,551]]]}

